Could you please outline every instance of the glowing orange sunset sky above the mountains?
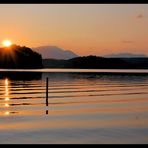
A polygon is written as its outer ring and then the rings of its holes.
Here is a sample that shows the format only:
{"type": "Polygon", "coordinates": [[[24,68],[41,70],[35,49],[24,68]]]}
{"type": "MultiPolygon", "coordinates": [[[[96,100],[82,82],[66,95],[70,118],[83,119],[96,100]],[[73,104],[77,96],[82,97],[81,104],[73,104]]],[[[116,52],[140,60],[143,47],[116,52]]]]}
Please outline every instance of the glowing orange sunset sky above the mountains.
{"type": "Polygon", "coordinates": [[[148,55],[148,4],[0,4],[0,41],[78,55],[148,55]]]}

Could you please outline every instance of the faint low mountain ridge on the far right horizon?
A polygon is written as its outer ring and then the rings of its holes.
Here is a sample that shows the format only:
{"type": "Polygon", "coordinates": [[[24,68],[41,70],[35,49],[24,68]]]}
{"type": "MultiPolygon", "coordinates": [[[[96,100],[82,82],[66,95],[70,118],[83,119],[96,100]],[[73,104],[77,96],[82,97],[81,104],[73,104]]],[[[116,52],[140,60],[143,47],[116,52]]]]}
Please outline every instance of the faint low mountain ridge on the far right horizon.
{"type": "Polygon", "coordinates": [[[133,53],[118,53],[118,54],[109,54],[104,57],[108,58],[146,58],[144,54],[133,54],[133,53]]]}

